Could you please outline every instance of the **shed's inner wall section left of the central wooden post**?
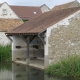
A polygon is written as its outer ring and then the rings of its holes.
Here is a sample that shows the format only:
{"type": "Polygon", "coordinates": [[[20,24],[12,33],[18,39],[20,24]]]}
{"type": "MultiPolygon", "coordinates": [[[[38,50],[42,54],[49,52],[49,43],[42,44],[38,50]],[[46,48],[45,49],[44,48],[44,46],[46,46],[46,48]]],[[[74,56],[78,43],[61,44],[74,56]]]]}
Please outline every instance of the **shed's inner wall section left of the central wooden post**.
{"type": "Polygon", "coordinates": [[[26,60],[26,42],[19,36],[13,36],[12,38],[12,61],[26,60]],[[17,48],[18,46],[21,48],[17,48]]]}

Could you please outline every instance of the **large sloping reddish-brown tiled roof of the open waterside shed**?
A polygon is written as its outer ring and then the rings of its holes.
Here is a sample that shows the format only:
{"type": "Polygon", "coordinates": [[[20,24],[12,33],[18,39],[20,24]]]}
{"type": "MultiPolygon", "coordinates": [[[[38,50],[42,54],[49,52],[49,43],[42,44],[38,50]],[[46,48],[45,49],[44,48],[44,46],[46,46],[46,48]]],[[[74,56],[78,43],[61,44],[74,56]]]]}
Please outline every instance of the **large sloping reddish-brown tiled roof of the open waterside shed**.
{"type": "Polygon", "coordinates": [[[40,16],[20,25],[19,27],[10,30],[9,32],[7,32],[7,34],[33,34],[45,31],[48,27],[54,25],[55,23],[68,17],[69,15],[75,13],[78,10],[80,10],[80,7],[55,10],[43,13],[40,16]]]}

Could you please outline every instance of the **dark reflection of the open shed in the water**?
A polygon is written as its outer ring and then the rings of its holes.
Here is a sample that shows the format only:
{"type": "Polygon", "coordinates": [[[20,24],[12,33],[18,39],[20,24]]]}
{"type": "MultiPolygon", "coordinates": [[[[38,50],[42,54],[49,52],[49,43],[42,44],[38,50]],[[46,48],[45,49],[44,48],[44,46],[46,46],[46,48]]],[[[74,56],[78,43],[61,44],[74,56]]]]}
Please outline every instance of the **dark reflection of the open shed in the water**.
{"type": "Polygon", "coordinates": [[[28,66],[12,64],[13,80],[44,80],[44,72],[28,66]]]}

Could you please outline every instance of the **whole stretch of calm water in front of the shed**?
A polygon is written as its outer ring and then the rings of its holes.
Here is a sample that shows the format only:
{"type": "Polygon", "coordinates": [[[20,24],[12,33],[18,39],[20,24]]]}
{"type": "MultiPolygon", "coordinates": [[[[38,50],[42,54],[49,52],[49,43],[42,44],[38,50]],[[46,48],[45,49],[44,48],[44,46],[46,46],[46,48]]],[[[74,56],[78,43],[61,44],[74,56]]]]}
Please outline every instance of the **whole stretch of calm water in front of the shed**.
{"type": "MultiPolygon", "coordinates": [[[[50,77],[43,70],[15,63],[0,63],[0,80],[71,80],[50,77]]],[[[73,80],[73,79],[72,79],[73,80]]]]}

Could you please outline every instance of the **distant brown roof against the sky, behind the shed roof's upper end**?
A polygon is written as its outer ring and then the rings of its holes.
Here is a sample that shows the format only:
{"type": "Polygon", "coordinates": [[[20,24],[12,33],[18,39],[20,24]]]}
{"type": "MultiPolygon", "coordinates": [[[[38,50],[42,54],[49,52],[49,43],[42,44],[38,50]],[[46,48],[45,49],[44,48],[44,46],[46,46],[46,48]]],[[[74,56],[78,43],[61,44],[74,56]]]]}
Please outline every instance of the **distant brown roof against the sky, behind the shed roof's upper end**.
{"type": "MultiPolygon", "coordinates": [[[[60,9],[67,9],[69,8],[73,3],[75,3],[77,1],[72,1],[72,2],[68,2],[68,3],[65,3],[65,4],[61,4],[61,5],[57,5],[57,6],[54,6],[52,8],[52,10],[60,10],[60,9]]],[[[78,3],[78,2],[77,2],[78,3]]],[[[76,6],[76,5],[75,5],[76,6]]],[[[74,7],[75,7],[74,6],[74,7]]]]}

